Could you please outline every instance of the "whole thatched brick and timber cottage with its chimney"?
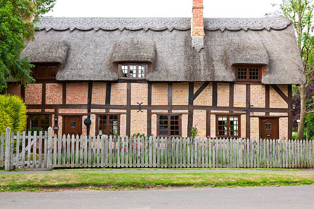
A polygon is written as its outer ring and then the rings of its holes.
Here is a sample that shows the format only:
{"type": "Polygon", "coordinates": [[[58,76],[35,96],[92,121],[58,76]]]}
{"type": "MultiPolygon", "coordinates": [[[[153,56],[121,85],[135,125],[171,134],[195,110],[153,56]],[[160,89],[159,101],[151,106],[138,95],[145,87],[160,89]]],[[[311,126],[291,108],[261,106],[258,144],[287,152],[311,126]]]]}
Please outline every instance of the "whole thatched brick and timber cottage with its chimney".
{"type": "Polygon", "coordinates": [[[22,56],[35,83],[9,83],[27,128],[59,134],[291,138],[291,85],[305,82],[290,21],[44,17],[22,56]]]}

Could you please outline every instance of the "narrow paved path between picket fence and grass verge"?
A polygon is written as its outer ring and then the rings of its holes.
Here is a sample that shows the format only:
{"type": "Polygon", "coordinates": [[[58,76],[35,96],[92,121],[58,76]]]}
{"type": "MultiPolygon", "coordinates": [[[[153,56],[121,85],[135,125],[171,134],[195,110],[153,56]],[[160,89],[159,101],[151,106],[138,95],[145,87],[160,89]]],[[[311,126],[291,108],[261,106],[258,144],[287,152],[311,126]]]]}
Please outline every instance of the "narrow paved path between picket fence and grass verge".
{"type": "Polygon", "coordinates": [[[222,170],[215,170],[215,169],[200,169],[200,170],[93,170],[93,171],[75,171],[75,170],[67,170],[67,171],[21,171],[21,172],[0,172],[2,174],[28,174],[28,173],[220,173],[220,172],[258,172],[258,173],[314,173],[314,170],[301,170],[301,171],[289,171],[289,170],[232,170],[232,169],[222,169],[222,170]]]}

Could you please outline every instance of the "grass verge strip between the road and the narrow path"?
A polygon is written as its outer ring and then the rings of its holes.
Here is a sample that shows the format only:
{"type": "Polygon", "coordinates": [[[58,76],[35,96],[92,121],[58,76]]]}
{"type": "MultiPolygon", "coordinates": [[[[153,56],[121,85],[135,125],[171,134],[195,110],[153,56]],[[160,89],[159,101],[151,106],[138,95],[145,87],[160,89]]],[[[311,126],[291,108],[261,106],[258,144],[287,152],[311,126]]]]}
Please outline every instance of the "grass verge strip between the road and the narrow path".
{"type": "Polygon", "coordinates": [[[312,173],[37,173],[0,176],[1,192],[314,184],[312,173]]]}

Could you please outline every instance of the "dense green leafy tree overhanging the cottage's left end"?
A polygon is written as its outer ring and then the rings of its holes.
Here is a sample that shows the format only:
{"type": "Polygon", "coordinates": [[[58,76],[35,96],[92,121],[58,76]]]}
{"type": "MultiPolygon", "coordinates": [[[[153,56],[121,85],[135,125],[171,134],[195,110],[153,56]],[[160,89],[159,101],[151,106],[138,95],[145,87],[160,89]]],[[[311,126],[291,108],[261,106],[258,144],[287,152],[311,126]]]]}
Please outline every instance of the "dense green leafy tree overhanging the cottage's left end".
{"type": "Polygon", "coordinates": [[[20,57],[25,40],[34,38],[34,22],[50,11],[56,0],[0,0],[0,92],[7,81],[33,82],[28,57],[20,57]],[[35,2],[35,1],[34,1],[35,2]]]}

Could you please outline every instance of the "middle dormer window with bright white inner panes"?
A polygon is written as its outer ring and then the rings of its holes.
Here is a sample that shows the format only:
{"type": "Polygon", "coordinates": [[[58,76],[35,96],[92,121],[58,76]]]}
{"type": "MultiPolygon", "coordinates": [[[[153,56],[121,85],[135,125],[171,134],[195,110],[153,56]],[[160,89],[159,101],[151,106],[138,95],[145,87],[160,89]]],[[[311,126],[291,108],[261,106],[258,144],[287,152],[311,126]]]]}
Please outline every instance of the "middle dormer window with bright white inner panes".
{"type": "Polygon", "coordinates": [[[119,64],[119,78],[146,79],[147,64],[119,64]]]}

